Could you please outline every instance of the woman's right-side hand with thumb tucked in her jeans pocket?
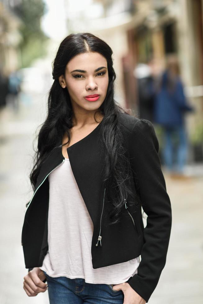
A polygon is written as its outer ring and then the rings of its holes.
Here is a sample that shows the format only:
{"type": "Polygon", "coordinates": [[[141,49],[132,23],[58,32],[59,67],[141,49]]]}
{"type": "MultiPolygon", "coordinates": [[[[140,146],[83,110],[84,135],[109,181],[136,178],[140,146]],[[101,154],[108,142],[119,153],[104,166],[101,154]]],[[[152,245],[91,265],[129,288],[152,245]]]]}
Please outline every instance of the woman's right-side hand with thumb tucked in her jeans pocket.
{"type": "Polygon", "coordinates": [[[122,290],[124,293],[123,304],[146,304],[146,301],[127,282],[116,284],[114,290],[122,290]]]}

